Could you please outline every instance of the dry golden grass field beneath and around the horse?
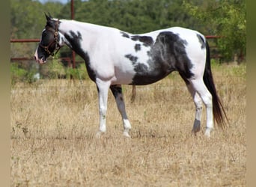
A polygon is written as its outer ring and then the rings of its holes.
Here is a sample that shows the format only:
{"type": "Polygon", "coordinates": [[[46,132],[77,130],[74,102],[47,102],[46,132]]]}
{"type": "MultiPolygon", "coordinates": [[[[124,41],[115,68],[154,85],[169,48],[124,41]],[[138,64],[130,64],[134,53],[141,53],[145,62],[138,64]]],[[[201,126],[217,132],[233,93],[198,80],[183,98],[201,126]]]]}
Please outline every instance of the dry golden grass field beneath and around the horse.
{"type": "Polygon", "coordinates": [[[132,138],[109,92],[107,132],[97,139],[93,82],[40,80],[11,88],[11,186],[246,186],[246,64],[213,66],[230,124],[192,135],[194,103],[177,73],[124,86],[132,138]]]}

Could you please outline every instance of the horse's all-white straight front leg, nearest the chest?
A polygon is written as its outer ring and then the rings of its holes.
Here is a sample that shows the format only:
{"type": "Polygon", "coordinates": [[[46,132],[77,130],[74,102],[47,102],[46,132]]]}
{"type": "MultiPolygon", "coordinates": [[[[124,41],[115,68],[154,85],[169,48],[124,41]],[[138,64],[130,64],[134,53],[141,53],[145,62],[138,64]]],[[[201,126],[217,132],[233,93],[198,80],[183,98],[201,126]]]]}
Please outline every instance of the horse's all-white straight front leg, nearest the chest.
{"type": "Polygon", "coordinates": [[[97,132],[97,137],[106,132],[106,111],[108,104],[108,92],[110,82],[104,82],[100,79],[96,81],[98,98],[99,98],[99,113],[100,113],[100,129],[97,132]]]}

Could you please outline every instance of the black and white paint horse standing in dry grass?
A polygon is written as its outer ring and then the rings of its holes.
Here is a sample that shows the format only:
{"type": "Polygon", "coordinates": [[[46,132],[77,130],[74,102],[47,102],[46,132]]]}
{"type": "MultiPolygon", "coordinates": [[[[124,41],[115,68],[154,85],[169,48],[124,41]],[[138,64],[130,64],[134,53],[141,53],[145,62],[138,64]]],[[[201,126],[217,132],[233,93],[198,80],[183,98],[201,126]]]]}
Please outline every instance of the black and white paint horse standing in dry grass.
{"type": "Polygon", "coordinates": [[[122,117],[123,134],[130,137],[131,124],[121,85],[152,84],[173,71],[180,74],[195,102],[192,132],[201,129],[203,103],[207,112],[204,134],[210,137],[214,122],[225,126],[227,116],[213,82],[209,45],[203,34],[181,27],[131,34],[118,28],[45,16],[46,25],[34,59],[45,64],[50,55],[67,45],[85,60],[88,76],[97,86],[100,113],[97,137],[106,132],[109,88],[122,117]]]}

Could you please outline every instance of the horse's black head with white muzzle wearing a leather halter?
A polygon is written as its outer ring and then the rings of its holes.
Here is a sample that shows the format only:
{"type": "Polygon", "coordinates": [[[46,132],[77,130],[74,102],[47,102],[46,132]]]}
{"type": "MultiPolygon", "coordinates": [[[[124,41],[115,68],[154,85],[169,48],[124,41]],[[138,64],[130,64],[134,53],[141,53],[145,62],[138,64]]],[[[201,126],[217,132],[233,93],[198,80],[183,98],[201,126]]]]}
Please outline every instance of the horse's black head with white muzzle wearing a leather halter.
{"type": "Polygon", "coordinates": [[[39,64],[45,64],[49,55],[55,55],[58,49],[63,46],[61,34],[58,31],[59,23],[58,19],[52,19],[52,16],[46,15],[46,26],[42,31],[40,43],[34,53],[34,59],[39,64]]]}

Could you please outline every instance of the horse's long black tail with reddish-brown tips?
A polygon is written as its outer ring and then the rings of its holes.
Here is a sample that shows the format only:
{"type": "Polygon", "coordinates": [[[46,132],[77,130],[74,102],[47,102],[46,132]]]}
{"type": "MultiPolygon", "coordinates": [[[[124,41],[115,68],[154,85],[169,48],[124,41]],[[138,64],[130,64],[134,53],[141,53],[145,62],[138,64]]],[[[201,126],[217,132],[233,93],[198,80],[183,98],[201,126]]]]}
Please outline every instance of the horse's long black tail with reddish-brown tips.
{"type": "Polygon", "coordinates": [[[213,97],[213,117],[216,123],[218,123],[219,126],[222,128],[225,126],[225,119],[228,122],[228,117],[225,112],[225,109],[222,105],[222,102],[219,99],[219,96],[217,94],[214,82],[213,82],[213,75],[212,70],[210,67],[210,49],[209,44],[207,43],[207,40],[205,42],[206,49],[207,49],[207,58],[206,58],[206,64],[204,69],[204,84],[206,85],[208,91],[212,94],[213,97]],[[225,117],[225,118],[224,118],[225,117]]]}

